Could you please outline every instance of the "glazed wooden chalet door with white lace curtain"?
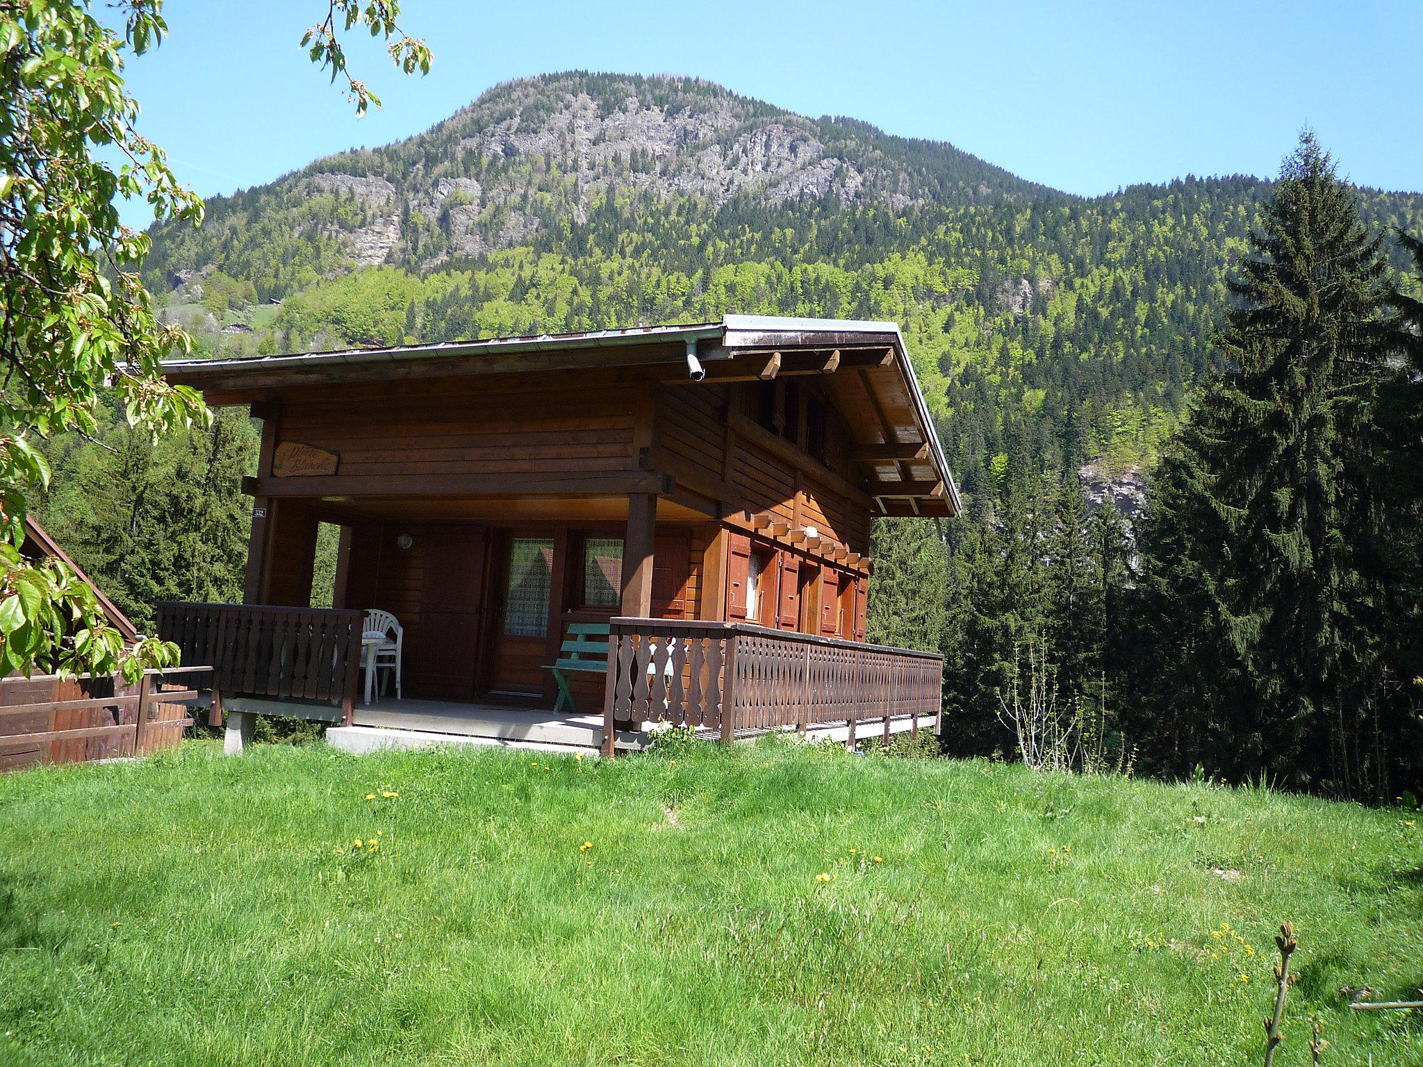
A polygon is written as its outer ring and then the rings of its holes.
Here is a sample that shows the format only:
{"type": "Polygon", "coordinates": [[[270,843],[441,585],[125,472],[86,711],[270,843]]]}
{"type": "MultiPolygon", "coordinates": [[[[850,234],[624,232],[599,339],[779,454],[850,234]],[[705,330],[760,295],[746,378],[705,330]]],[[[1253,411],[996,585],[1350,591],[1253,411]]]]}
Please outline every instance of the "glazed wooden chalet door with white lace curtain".
{"type": "Polygon", "coordinates": [[[541,696],[554,593],[554,535],[511,534],[504,541],[490,691],[541,696]]]}

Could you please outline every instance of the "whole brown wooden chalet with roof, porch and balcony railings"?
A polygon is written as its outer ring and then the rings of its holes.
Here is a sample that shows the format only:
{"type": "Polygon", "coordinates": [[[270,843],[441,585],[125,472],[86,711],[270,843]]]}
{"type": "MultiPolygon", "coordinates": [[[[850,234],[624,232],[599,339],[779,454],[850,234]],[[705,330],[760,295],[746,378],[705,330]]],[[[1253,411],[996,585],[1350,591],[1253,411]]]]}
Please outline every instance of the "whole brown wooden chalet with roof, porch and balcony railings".
{"type": "Polygon", "coordinates": [[[159,613],[229,711],[559,741],[549,666],[592,633],[559,723],[606,751],[659,721],[936,721],[939,659],[865,643],[871,518],[959,511],[892,323],[727,316],[165,370],[262,420],[245,605],[159,613]],[[357,693],[366,609],[404,626],[400,699],[357,693]]]}

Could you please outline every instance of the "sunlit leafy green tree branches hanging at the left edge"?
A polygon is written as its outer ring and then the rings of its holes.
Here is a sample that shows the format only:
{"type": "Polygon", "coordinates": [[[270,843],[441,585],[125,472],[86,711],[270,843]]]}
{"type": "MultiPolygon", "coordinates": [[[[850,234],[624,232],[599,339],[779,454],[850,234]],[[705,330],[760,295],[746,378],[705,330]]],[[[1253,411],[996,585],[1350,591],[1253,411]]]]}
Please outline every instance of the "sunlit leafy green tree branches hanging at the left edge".
{"type": "MultiPolygon", "coordinates": [[[[124,88],[125,57],[168,30],[161,9],[117,0],[101,21],[91,0],[0,0],[0,674],[137,679],[178,657],[152,639],[125,646],[71,568],[23,552],[28,501],[50,479],[37,438],[91,435],[110,391],[129,424],[154,435],[212,418],[198,393],[164,380],[164,357],[191,340],[155,313],[138,275],[149,238],[118,211],[137,198],[155,221],[202,223],[202,201],[137,132],[138,102],[124,88]]],[[[332,0],[307,36],[312,60],[333,80],[344,74],[336,26],[360,23],[390,41],[403,70],[427,71],[430,50],[397,17],[394,0],[332,0]]],[[[357,114],[379,105],[350,84],[357,114]]]]}

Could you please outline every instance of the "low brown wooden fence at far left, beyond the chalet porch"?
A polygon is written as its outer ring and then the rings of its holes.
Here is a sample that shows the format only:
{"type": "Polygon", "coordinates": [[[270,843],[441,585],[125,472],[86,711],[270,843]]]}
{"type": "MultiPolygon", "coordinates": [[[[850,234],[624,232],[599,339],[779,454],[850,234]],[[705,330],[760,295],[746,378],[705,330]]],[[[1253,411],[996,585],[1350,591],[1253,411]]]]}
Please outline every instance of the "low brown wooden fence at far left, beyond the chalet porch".
{"type": "Polygon", "coordinates": [[[34,763],[151,755],[182,741],[211,667],[151,670],[138,684],[114,676],[0,679],[0,771],[34,763]]]}

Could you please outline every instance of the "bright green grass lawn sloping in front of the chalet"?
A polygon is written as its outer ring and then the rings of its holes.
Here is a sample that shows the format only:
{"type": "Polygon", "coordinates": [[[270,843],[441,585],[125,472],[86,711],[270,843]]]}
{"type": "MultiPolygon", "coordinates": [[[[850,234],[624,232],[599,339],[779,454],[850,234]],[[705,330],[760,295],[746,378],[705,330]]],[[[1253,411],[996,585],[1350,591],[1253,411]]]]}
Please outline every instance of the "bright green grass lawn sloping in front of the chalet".
{"type": "Polygon", "coordinates": [[[784,744],[195,743],[0,775],[0,1063],[1258,1063],[1292,919],[1279,1066],[1309,1012],[1326,1064],[1417,1064],[1339,989],[1423,984],[1420,834],[784,744]]]}

